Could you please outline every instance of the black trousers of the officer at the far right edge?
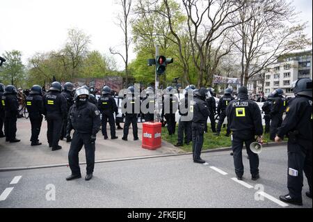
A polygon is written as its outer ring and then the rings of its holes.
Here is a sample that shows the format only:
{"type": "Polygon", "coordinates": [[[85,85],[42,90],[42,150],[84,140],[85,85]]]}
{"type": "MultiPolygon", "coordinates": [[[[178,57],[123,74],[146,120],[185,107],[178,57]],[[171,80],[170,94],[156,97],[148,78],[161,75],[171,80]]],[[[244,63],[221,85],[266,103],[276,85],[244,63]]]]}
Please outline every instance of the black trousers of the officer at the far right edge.
{"type": "Polygon", "coordinates": [[[312,193],[312,143],[306,147],[288,141],[287,187],[292,198],[302,200],[303,171],[312,193]],[[294,171],[290,170],[293,169],[294,171]],[[292,173],[296,172],[298,175],[292,173]]]}

